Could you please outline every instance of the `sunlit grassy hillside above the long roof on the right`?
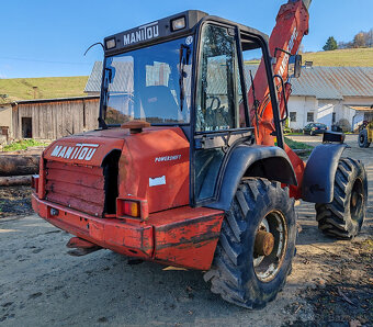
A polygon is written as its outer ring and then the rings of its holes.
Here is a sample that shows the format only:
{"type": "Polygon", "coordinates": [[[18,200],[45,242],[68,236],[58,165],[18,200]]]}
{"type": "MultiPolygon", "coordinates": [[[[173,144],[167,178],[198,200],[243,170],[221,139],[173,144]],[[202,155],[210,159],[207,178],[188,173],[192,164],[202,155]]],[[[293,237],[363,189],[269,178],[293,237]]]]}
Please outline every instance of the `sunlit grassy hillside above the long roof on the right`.
{"type": "Polygon", "coordinates": [[[314,61],[314,66],[373,67],[373,48],[348,48],[331,52],[303,53],[302,61],[314,61]]]}

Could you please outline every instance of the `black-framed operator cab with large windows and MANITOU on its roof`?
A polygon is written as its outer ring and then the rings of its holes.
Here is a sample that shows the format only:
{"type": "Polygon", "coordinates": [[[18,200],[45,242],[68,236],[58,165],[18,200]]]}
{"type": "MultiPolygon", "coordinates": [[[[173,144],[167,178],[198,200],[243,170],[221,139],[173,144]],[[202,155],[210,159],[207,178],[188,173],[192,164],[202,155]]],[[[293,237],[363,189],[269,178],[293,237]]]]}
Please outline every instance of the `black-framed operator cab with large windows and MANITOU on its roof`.
{"type": "Polygon", "coordinates": [[[255,143],[250,110],[260,116],[271,104],[282,147],[268,36],[261,32],[190,10],[109,36],[104,44],[100,126],[133,120],[180,126],[191,144],[192,205],[217,199],[229,147],[255,143]],[[260,60],[267,80],[256,81],[260,60]],[[268,90],[260,94],[256,82],[268,90]]]}

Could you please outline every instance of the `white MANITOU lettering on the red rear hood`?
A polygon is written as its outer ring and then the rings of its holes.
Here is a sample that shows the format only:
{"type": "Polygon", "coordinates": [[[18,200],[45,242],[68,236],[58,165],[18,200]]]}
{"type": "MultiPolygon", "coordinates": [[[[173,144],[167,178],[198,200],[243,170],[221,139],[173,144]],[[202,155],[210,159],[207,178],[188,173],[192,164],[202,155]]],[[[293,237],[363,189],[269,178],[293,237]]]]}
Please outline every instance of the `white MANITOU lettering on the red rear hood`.
{"type": "Polygon", "coordinates": [[[53,149],[50,157],[89,161],[92,159],[98,147],[99,147],[98,144],[84,144],[84,143],[78,143],[75,146],[57,145],[53,149]]]}

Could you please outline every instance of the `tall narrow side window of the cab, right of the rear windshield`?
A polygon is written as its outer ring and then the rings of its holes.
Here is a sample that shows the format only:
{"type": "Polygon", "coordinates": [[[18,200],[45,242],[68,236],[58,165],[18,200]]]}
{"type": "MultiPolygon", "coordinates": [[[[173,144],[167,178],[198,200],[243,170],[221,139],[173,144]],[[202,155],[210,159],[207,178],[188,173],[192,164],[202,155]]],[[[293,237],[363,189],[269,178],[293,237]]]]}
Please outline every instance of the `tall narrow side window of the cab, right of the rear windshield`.
{"type": "Polygon", "coordinates": [[[239,81],[235,33],[227,27],[205,25],[196,97],[196,132],[239,127],[239,81]],[[230,35],[233,34],[233,35],[230,35]]]}

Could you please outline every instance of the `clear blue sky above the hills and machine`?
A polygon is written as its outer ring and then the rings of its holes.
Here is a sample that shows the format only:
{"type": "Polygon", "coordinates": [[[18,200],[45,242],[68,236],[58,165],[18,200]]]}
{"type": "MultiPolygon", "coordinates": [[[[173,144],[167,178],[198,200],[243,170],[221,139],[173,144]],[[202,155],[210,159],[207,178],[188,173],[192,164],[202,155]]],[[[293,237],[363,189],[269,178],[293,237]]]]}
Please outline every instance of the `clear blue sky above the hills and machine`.
{"type": "MultiPolygon", "coordinates": [[[[270,34],[286,0],[2,0],[0,78],[89,75],[105,36],[188,9],[256,27],[270,34]]],[[[351,41],[373,27],[373,0],[313,0],[305,50],[321,50],[328,36],[351,41]]]]}

